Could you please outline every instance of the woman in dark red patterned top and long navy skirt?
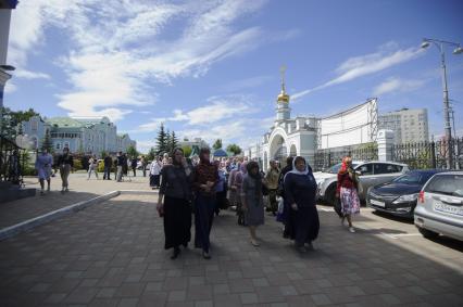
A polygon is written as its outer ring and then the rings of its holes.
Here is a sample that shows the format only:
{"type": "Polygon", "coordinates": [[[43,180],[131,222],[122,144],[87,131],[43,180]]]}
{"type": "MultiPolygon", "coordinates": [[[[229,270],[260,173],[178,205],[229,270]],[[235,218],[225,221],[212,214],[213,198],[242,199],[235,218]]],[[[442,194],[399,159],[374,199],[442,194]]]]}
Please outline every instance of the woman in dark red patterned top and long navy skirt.
{"type": "Polygon", "coordinates": [[[195,189],[195,246],[202,248],[204,259],[210,259],[210,240],[215,210],[215,184],[218,182],[217,167],[210,161],[211,151],[201,149],[200,162],[195,167],[192,187],[195,189]]]}

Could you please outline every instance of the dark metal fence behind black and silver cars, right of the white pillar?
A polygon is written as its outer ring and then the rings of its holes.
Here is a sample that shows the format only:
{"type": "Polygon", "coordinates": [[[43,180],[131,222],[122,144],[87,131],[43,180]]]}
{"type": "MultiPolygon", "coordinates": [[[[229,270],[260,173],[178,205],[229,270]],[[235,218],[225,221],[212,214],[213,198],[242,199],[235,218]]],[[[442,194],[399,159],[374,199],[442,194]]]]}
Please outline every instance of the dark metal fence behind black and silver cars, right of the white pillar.
{"type": "MultiPolygon", "coordinates": [[[[391,157],[395,162],[405,163],[411,169],[447,168],[449,157],[448,145],[445,140],[437,142],[422,142],[397,144],[391,148],[391,157]]],[[[463,168],[463,138],[450,141],[452,149],[453,169],[463,168]]]]}

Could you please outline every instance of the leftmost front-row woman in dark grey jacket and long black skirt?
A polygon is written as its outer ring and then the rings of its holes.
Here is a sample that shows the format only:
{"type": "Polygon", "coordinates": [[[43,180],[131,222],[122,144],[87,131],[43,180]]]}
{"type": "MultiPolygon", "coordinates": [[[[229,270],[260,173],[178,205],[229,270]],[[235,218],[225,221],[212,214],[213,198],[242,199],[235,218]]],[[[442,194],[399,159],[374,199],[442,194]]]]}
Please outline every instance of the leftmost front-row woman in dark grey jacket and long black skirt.
{"type": "Polygon", "coordinates": [[[174,248],[172,259],[180,254],[179,246],[186,247],[191,240],[191,172],[182,149],[175,149],[173,164],[162,168],[157,208],[164,218],[164,248],[174,248]]]}

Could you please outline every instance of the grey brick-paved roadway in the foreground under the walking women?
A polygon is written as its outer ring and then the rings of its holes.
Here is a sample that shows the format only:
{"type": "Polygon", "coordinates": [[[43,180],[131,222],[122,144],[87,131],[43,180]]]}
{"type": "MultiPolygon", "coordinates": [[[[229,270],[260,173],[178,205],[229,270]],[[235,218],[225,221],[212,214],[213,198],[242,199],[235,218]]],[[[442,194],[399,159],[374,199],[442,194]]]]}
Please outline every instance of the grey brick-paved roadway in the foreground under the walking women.
{"type": "Polygon", "coordinates": [[[213,258],[163,250],[152,196],[122,195],[0,242],[1,306],[463,306],[463,248],[363,209],[358,232],[320,207],[301,256],[267,218],[260,247],[233,213],[214,221],[213,258]]]}

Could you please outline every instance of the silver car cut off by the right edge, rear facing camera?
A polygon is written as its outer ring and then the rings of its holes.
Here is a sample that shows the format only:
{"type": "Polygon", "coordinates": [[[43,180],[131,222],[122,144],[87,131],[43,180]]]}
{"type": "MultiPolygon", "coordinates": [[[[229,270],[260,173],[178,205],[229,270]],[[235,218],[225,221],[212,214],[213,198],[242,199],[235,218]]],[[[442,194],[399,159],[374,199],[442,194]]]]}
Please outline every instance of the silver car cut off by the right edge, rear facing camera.
{"type": "Polygon", "coordinates": [[[436,174],[426,182],[414,222],[425,238],[443,234],[463,241],[463,171],[436,174]]]}

